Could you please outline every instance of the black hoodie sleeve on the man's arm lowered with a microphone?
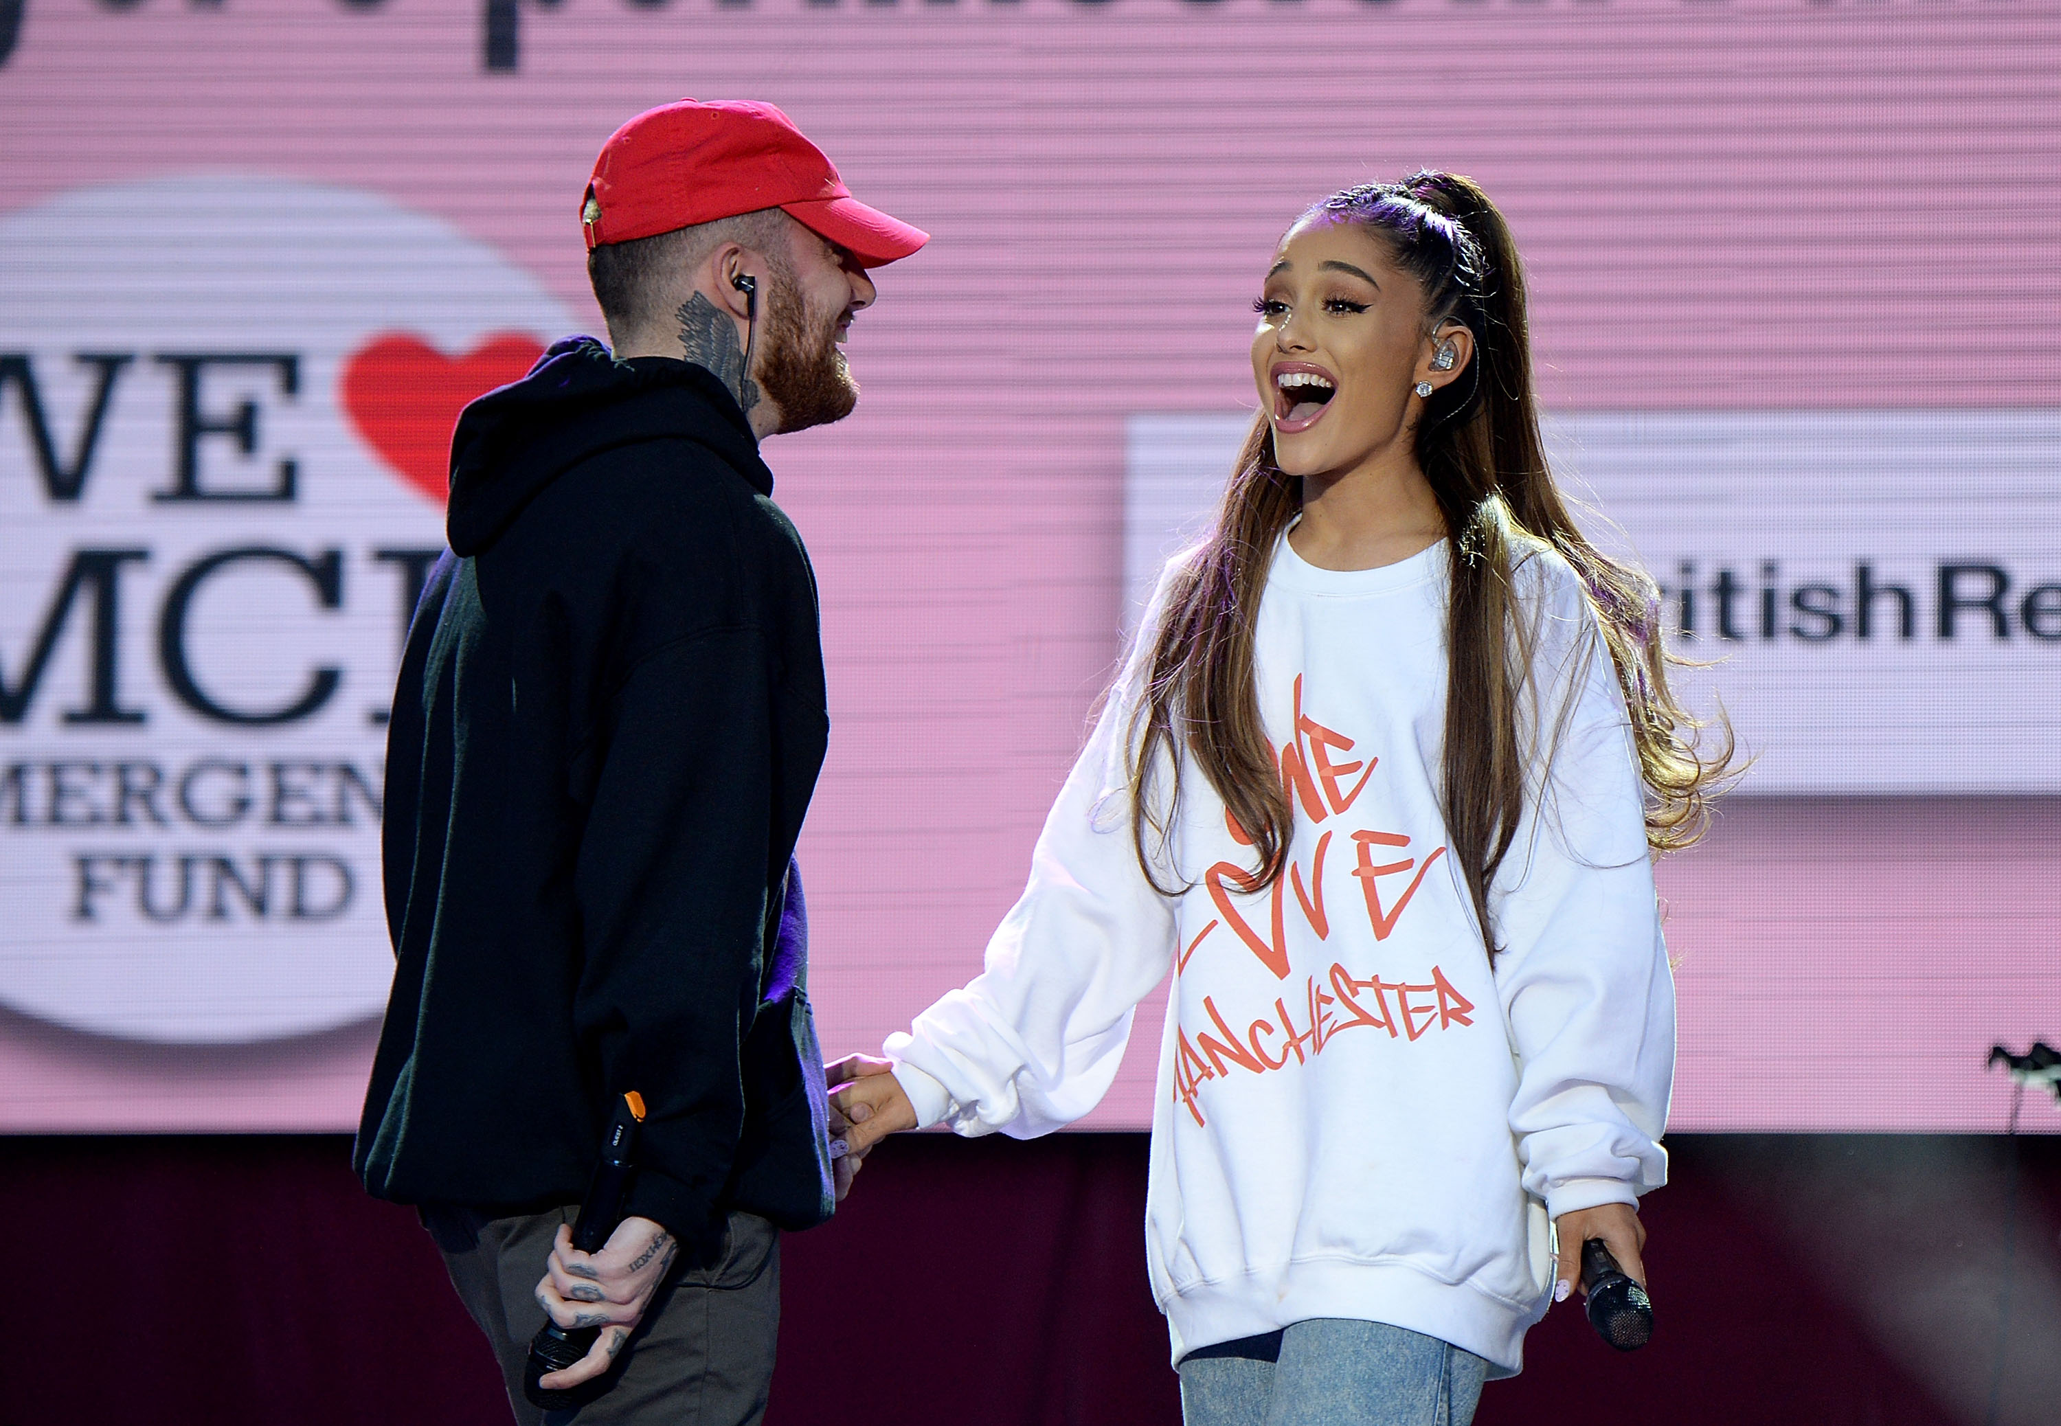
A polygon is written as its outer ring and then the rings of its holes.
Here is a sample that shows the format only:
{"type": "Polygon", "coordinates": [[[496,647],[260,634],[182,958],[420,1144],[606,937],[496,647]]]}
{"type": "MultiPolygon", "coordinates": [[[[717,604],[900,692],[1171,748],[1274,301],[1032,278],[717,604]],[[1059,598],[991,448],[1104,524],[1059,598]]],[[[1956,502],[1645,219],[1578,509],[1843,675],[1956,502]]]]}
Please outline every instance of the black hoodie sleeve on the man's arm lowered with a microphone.
{"type": "Polygon", "coordinates": [[[758,1006],[773,835],[773,713],[761,633],[713,629],[645,655],[606,719],[575,894],[575,999],[604,1094],[649,1117],[627,1214],[695,1245],[744,1125],[740,1053],[758,1006]]]}

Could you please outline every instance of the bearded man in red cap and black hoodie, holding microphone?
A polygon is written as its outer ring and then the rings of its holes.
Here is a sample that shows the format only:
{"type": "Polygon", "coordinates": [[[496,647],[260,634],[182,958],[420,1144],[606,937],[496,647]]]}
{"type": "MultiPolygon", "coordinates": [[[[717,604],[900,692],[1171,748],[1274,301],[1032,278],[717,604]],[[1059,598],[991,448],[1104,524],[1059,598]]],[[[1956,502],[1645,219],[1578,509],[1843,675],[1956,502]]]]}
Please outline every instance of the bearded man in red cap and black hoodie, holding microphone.
{"type": "Polygon", "coordinates": [[[758,441],[851,412],[868,270],[925,235],[761,103],[637,115],[579,216],[612,350],[559,342],[451,443],[387,734],[398,964],[354,1158],[420,1208],[519,1422],[548,1313],[600,1329],[532,1383],[583,1426],[742,1424],[779,1230],[851,1173],[793,865],[829,734],[816,587],[758,441]],[[581,1253],[627,1094],[624,1218],[581,1253]]]}

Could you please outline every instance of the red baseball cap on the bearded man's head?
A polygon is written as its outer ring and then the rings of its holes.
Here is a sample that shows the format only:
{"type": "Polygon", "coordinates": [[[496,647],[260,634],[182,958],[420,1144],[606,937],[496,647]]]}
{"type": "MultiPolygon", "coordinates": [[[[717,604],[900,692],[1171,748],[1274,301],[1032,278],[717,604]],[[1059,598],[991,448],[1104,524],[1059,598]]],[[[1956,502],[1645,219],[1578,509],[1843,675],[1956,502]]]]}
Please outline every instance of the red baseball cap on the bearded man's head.
{"type": "Polygon", "coordinates": [[[682,99],[645,109],[602,144],[579,204],[587,249],[781,208],[878,268],[930,233],[868,208],[837,167],[769,103],[682,99]]]}

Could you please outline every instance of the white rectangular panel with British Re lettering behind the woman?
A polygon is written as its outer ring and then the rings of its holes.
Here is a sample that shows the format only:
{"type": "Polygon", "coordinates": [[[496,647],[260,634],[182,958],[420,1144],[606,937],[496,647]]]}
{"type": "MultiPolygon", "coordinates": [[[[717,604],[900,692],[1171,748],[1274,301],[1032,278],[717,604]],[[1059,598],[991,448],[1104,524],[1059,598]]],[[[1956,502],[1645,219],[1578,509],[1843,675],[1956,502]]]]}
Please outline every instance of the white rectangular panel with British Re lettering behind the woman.
{"type": "MultiPolygon", "coordinates": [[[[1127,618],[1249,416],[1134,416],[1127,618]]],[[[1591,538],[1661,581],[1760,793],[2061,791],[2061,412],[1583,412],[1591,538]]],[[[1707,701],[1707,697],[1704,697],[1707,701]]]]}

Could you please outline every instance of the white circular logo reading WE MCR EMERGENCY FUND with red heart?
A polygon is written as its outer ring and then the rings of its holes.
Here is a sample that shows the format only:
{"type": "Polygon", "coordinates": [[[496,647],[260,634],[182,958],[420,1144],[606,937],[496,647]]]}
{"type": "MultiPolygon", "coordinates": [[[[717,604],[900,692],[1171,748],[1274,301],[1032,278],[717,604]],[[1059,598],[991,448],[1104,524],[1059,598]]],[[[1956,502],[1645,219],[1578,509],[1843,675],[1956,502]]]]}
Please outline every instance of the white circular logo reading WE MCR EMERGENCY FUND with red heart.
{"type": "Polygon", "coordinates": [[[0,220],[0,270],[37,274],[0,291],[0,1006],[165,1043],[379,1014],[451,420],[567,311],[441,220],[276,177],[64,194],[0,220]]]}

